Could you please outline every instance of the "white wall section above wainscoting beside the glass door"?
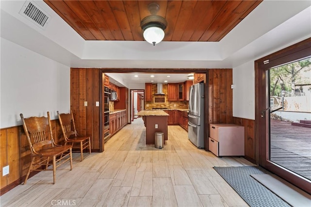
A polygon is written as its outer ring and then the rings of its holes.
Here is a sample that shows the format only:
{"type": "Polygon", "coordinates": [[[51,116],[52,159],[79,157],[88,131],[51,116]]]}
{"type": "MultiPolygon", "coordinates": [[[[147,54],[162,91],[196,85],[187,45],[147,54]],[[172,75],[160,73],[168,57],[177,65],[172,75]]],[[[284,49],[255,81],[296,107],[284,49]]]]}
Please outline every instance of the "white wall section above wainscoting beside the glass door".
{"type": "Polygon", "coordinates": [[[255,60],[232,69],[233,116],[255,120],[255,60]]]}

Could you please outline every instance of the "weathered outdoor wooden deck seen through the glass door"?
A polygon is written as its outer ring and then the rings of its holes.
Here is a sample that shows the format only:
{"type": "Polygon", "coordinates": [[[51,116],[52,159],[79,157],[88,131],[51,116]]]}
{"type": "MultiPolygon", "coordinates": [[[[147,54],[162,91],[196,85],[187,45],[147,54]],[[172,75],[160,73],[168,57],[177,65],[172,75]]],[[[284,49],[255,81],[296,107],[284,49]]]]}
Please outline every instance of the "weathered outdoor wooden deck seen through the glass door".
{"type": "Polygon", "coordinates": [[[271,161],[311,180],[311,128],[271,120],[271,161]]]}

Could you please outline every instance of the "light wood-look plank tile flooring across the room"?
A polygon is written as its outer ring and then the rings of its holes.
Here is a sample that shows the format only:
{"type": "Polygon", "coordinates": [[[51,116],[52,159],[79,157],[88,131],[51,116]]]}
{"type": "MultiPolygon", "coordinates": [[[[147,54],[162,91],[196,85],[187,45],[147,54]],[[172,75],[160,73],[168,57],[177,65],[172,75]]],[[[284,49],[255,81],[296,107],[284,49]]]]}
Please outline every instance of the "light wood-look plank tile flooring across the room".
{"type": "Polygon", "coordinates": [[[141,118],[128,124],[105,143],[104,153],[74,153],[69,163],[40,172],[26,185],[0,197],[1,207],[24,206],[210,206],[247,204],[213,170],[213,166],[251,166],[241,157],[216,157],[197,149],[180,126],[169,126],[163,149],[145,144],[141,118]]]}

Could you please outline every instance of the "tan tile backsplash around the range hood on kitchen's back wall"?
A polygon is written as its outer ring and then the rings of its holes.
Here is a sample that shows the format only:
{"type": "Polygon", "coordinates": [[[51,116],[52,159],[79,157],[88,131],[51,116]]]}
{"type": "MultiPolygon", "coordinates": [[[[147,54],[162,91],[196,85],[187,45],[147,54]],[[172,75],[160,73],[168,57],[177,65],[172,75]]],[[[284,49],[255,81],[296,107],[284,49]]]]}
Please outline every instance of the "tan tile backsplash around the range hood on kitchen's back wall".
{"type": "Polygon", "coordinates": [[[188,101],[167,101],[168,100],[168,89],[167,84],[162,85],[162,91],[165,95],[156,95],[156,84],[152,84],[152,101],[145,102],[145,109],[153,108],[169,108],[169,109],[188,109],[188,101]],[[155,103],[155,98],[165,97],[165,103],[155,103]]]}

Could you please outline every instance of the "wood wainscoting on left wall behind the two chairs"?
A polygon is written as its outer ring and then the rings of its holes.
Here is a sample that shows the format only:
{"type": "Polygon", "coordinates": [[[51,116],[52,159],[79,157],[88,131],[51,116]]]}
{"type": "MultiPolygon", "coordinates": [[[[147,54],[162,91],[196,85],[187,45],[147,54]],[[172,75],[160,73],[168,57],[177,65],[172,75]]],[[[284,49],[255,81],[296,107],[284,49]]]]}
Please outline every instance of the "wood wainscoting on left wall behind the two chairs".
{"type": "MultiPolygon", "coordinates": [[[[63,142],[58,119],[52,120],[53,138],[56,143],[63,142]]],[[[23,126],[0,129],[0,191],[1,195],[24,182],[30,165],[30,149],[23,126]],[[10,173],[2,176],[2,168],[9,165],[10,173]]],[[[37,172],[32,172],[30,177],[37,172]]]]}

